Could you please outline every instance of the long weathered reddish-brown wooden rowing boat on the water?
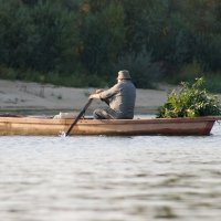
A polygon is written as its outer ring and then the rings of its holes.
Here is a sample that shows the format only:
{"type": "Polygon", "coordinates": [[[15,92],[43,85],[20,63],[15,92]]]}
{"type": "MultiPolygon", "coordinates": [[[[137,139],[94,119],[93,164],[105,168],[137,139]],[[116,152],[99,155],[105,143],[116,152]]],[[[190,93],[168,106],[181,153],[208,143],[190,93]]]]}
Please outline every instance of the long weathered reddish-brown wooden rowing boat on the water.
{"type": "MultiPolygon", "coordinates": [[[[141,118],[141,119],[80,119],[71,135],[210,135],[221,117],[141,118]]],[[[0,117],[0,135],[62,135],[73,119],[50,117],[0,117]]]]}

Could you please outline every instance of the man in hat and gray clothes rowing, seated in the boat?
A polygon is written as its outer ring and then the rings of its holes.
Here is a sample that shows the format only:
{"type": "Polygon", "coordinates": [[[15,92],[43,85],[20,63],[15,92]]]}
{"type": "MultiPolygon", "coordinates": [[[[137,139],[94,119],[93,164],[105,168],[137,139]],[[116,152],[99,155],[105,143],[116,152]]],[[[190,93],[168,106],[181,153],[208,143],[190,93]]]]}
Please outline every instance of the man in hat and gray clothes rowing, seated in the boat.
{"type": "Polygon", "coordinates": [[[117,84],[109,90],[97,90],[90,98],[105,102],[108,107],[95,109],[95,119],[133,119],[136,101],[136,87],[127,70],[119,71],[117,84]]]}

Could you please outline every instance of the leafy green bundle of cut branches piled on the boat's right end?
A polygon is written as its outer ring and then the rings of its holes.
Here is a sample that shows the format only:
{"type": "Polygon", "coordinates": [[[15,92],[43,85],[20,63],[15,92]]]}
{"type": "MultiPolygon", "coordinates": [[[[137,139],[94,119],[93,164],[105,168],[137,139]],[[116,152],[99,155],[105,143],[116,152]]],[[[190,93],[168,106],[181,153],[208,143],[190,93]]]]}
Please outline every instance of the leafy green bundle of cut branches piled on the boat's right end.
{"type": "Polygon", "coordinates": [[[168,94],[167,102],[159,108],[158,117],[199,117],[221,114],[218,97],[209,95],[202,88],[203,78],[197,78],[193,84],[181,83],[177,94],[175,91],[168,94]]]}

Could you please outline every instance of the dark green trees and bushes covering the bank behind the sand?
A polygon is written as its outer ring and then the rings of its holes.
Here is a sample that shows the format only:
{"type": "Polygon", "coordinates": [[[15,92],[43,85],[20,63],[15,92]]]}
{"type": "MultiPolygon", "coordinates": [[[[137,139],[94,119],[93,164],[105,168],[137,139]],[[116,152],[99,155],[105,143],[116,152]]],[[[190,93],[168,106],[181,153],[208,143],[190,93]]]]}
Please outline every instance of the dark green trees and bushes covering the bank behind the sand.
{"type": "Polygon", "coordinates": [[[0,0],[0,78],[137,87],[192,82],[221,92],[220,0],[0,0]]]}

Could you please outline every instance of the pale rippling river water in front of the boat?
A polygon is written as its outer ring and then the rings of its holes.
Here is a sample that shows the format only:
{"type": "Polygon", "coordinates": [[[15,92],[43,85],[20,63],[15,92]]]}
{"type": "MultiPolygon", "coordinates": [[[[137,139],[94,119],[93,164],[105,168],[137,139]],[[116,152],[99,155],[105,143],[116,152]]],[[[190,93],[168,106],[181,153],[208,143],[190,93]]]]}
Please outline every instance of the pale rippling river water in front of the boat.
{"type": "Polygon", "coordinates": [[[207,137],[0,137],[1,221],[221,219],[221,125],[207,137]]]}

